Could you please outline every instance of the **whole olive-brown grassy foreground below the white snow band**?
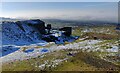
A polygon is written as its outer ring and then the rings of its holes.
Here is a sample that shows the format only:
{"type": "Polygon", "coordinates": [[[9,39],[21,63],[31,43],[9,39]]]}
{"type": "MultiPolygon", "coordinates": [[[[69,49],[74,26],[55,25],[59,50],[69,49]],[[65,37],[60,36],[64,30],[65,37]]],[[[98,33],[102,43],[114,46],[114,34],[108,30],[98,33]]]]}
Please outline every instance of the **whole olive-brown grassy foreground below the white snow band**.
{"type": "MultiPolygon", "coordinates": [[[[81,50],[60,50],[52,53],[46,53],[44,57],[38,56],[37,58],[31,58],[29,60],[15,61],[11,63],[3,64],[3,71],[40,71],[40,70],[52,70],[52,71],[103,71],[103,70],[115,70],[118,71],[119,66],[102,60],[99,55],[107,53],[96,52],[82,52],[81,50]],[[67,54],[71,51],[79,51],[75,56],[70,57],[67,54]],[[59,64],[55,68],[40,69],[35,67],[37,64],[44,64],[45,61],[52,62],[55,59],[69,58],[67,61],[59,64]]],[[[118,64],[118,63],[117,63],[118,64]]]]}

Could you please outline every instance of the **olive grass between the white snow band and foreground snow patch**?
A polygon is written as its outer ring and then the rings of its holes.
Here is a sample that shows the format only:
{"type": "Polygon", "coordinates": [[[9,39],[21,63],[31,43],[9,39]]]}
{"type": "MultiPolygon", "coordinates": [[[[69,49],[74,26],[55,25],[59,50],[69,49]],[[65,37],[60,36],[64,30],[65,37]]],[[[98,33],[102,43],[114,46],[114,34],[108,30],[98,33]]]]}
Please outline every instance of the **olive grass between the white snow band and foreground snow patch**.
{"type": "Polygon", "coordinates": [[[38,67],[35,67],[35,65],[38,63],[44,64],[45,61],[52,61],[54,59],[63,59],[66,57],[67,52],[61,51],[54,51],[52,53],[46,53],[43,58],[41,56],[38,56],[37,58],[31,58],[28,60],[23,61],[15,61],[3,64],[2,70],[3,71],[32,71],[32,70],[41,70],[38,67]]]}

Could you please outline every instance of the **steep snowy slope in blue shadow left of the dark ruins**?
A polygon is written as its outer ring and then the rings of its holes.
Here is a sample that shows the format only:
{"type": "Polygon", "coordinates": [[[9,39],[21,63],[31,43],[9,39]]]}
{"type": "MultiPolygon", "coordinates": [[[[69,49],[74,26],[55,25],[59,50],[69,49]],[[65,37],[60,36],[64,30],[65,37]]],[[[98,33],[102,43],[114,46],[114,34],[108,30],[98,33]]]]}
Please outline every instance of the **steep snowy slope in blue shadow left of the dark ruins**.
{"type": "Polygon", "coordinates": [[[28,45],[43,42],[39,30],[34,25],[43,25],[41,20],[25,20],[2,23],[3,45],[28,45]],[[32,24],[33,26],[30,26],[32,24]]]}

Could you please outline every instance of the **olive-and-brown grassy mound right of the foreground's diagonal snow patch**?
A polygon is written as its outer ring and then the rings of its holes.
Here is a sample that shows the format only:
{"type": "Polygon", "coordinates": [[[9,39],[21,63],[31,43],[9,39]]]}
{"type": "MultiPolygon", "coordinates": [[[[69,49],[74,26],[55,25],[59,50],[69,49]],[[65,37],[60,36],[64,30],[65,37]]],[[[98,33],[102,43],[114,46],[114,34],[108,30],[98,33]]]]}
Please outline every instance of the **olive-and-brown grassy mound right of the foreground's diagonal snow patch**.
{"type": "Polygon", "coordinates": [[[118,71],[119,66],[114,65],[105,60],[94,56],[92,53],[79,52],[75,57],[72,57],[68,62],[64,62],[58,66],[57,71],[118,71]]]}

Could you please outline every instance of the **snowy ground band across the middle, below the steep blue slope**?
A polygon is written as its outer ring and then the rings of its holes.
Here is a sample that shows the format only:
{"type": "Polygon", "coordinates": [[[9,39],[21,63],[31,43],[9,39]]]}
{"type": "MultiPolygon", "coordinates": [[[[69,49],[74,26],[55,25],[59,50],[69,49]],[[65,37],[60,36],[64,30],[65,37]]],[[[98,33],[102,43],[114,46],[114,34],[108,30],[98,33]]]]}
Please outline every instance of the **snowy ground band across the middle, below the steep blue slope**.
{"type": "MultiPolygon", "coordinates": [[[[61,37],[59,39],[62,39],[61,37]]],[[[64,38],[65,39],[65,38],[64,38]]],[[[66,40],[66,39],[65,39],[66,40]]],[[[67,40],[71,40],[68,38],[67,40]]],[[[23,46],[17,46],[17,45],[3,45],[3,55],[0,57],[0,60],[2,60],[3,63],[5,62],[11,62],[15,60],[24,60],[29,58],[34,58],[39,55],[42,55],[44,53],[50,53],[53,51],[59,51],[61,49],[81,49],[82,51],[100,51],[100,52],[118,52],[119,47],[115,45],[111,45],[111,48],[102,49],[101,46],[104,46],[104,44],[96,45],[98,43],[104,42],[104,40],[84,40],[84,38],[79,39],[81,42],[74,42],[69,44],[53,44],[53,43],[47,43],[47,42],[41,42],[36,44],[30,44],[30,45],[23,45],[23,46]],[[52,45],[50,45],[52,44],[52,45]],[[47,48],[35,48],[37,46],[46,46],[50,45],[47,48]],[[22,47],[27,47],[28,49],[23,51],[22,47]],[[7,50],[6,50],[7,49],[7,50]]],[[[60,42],[63,42],[61,40],[60,42]]],[[[2,52],[2,50],[0,50],[2,52]]]]}

